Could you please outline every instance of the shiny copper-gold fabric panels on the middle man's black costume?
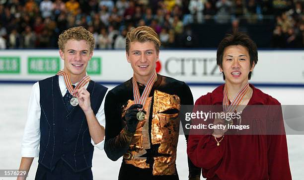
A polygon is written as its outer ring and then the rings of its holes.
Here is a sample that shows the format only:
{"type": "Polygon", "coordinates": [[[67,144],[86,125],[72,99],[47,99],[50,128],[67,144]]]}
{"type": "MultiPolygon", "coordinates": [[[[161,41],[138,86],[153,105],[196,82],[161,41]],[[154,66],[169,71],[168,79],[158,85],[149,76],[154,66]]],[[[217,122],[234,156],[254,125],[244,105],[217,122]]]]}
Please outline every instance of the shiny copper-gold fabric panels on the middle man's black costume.
{"type": "MultiPolygon", "coordinates": [[[[175,175],[180,98],[177,95],[154,90],[153,100],[151,142],[152,144],[159,144],[158,153],[164,156],[153,157],[152,174],[175,175]],[[174,113],[167,113],[169,111],[174,113]]],[[[147,158],[140,156],[147,153],[146,149],[151,148],[149,139],[151,102],[152,97],[149,97],[144,107],[144,110],[147,112],[146,118],[144,121],[138,123],[129,150],[124,155],[126,164],[131,164],[138,168],[150,168],[150,164],[146,163],[147,158]]],[[[122,117],[132,104],[134,104],[134,101],[129,100],[128,104],[123,107],[122,117]]]]}

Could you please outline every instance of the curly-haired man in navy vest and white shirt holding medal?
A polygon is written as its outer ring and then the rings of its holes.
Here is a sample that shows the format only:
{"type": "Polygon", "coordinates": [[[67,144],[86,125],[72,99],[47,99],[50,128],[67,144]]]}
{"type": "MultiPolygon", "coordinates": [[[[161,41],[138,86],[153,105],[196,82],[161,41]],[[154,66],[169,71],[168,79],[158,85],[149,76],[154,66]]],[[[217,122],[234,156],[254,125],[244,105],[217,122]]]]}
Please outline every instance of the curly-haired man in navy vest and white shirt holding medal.
{"type": "Polygon", "coordinates": [[[92,180],[94,146],[104,144],[107,88],[86,73],[94,48],[89,31],[70,28],[58,45],[64,69],[33,86],[19,169],[29,171],[39,156],[35,180],[92,180]]]}

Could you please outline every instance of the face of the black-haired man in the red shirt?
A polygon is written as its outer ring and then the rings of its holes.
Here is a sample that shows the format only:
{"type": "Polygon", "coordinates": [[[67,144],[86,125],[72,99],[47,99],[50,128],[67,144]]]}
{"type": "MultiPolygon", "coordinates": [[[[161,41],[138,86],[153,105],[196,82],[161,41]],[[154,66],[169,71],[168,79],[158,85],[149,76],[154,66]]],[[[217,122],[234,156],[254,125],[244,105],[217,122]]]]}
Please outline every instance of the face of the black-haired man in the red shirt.
{"type": "Polygon", "coordinates": [[[248,82],[248,74],[252,72],[250,56],[246,47],[232,45],[224,49],[223,63],[220,71],[224,72],[226,84],[244,86],[248,82]]]}

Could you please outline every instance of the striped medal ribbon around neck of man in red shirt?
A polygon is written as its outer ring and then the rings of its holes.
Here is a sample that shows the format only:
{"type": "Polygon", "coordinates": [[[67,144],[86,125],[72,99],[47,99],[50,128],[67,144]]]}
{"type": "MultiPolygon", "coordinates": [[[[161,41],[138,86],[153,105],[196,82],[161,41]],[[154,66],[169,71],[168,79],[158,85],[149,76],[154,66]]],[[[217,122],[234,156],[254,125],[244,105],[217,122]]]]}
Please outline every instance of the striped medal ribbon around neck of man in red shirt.
{"type": "Polygon", "coordinates": [[[227,90],[227,86],[225,84],[224,99],[223,99],[224,111],[229,112],[229,113],[234,112],[237,105],[240,103],[240,101],[243,99],[244,95],[246,94],[247,90],[249,90],[249,84],[248,83],[236,94],[236,96],[232,100],[231,104],[229,104],[228,90],[227,90]]]}

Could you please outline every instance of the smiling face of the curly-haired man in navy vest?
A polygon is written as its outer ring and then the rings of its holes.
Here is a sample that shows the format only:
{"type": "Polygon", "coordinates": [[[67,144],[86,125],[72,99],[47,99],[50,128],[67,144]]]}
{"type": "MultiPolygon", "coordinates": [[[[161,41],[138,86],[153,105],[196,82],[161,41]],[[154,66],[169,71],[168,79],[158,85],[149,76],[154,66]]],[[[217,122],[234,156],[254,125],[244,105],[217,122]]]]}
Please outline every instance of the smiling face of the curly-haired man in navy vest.
{"type": "Polygon", "coordinates": [[[63,71],[69,74],[72,83],[80,81],[86,75],[87,63],[93,55],[87,41],[69,39],[59,54],[65,61],[63,71]]]}

